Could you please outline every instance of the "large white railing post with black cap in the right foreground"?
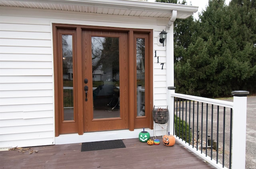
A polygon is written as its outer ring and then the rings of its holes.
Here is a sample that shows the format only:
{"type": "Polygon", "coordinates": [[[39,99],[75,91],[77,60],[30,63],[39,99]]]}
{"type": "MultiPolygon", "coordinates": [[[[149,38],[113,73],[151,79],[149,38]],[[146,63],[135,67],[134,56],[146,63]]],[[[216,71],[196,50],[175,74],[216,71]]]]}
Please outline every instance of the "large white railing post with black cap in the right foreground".
{"type": "Polygon", "coordinates": [[[245,169],[246,107],[248,91],[232,91],[234,96],[232,123],[232,169],[245,169]]]}

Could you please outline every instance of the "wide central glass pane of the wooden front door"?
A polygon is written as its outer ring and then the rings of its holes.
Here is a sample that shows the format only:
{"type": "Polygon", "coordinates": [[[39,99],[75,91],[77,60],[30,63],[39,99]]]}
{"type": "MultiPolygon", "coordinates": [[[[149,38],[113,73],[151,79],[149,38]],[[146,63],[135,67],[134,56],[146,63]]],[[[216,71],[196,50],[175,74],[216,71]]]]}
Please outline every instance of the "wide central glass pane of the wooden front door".
{"type": "Polygon", "coordinates": [[[120,117],[119,38],[92,37],[93,118],[120,117]]]}

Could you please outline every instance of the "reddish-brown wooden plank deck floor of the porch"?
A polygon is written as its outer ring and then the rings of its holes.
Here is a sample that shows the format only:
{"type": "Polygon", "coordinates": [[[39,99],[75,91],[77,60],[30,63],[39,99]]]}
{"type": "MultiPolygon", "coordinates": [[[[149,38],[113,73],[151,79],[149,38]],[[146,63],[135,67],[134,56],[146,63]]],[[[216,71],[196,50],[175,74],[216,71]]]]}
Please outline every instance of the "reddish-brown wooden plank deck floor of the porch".
{"type": "MultiPolygon", "coordinates": [[[[161,140],[161,137],[159,138],[161,140]]],[[[210,164],[181,144],[148,145],[138,139],[123,140],[126,148],[81,152],[81,143],[30,147],[24,153],[0,151],[2,169],[212,169],[210,164]],[[29,154],[29,151],[37,150],[29,154]]]]}

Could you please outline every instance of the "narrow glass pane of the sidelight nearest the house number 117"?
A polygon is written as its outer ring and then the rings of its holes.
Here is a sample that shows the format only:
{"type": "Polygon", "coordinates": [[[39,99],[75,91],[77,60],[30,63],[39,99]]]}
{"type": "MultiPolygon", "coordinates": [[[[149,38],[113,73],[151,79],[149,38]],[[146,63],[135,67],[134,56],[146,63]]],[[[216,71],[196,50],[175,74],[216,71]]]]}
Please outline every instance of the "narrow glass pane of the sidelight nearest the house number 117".
{"type": "Polygon", "coordinates": [[[137,116],[145,116],[145,39],[136,38],[137,116]]]}

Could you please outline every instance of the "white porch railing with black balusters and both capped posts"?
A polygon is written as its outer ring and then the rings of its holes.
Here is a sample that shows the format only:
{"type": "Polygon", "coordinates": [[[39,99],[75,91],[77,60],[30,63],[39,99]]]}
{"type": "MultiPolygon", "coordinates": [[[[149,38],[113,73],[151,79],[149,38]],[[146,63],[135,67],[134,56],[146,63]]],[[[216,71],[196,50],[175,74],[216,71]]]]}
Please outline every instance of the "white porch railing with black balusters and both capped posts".
{"type": "Polygon", "coordinates": [[[244,169],[246,104],[249,92],[233,91],[233,102],[229,102],[178,94],[175,93],[175,87],[168,87],[168,89],[170,134],[216,168],[244,169]],[[186,124],[186,127],[190,128],[188,135],[184,136],[185,131],[174,125],[174,114],[180,121],[184,121],[183,124],[186,124]],[[189,137],[189,140],[184,137],[189,137]]]}

